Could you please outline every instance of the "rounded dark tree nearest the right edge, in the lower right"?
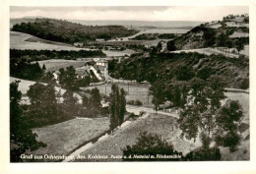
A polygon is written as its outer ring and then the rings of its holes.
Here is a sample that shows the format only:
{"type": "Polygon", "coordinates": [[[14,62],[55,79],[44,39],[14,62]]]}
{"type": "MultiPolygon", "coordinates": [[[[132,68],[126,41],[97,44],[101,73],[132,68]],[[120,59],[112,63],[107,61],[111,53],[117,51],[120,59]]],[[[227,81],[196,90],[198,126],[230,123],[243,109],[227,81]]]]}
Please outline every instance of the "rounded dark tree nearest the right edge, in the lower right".
{"type": "Polygon", "coordinates": [[[243,117],[241,104],[236,100],[227,100],[216,117],[218,125],[216,134],[219,145],[228,146],[230,151],[236,149],[241,140],[238,126],[243,117]]]}

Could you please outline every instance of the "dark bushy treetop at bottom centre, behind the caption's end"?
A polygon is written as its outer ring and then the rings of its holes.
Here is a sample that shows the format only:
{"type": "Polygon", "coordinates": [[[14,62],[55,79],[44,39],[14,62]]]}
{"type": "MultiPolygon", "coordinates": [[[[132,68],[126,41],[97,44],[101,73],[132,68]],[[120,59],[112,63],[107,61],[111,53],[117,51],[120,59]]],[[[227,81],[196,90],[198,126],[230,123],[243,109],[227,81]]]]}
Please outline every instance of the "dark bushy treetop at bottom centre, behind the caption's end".
{"type": "Polygon", "coordinates": [[[182,153],[173,149],[173,145],[160,139],[157,134],[147,132],[140,133],[138,142],[135,145],[127,145],[123,149],[124,161],[178,161],[182,159],[182,153]],[[136,156],[146,155],[147,157],[137,158],[136,156]],[[160,156],[173,156],[160,158],[160,156]]]}

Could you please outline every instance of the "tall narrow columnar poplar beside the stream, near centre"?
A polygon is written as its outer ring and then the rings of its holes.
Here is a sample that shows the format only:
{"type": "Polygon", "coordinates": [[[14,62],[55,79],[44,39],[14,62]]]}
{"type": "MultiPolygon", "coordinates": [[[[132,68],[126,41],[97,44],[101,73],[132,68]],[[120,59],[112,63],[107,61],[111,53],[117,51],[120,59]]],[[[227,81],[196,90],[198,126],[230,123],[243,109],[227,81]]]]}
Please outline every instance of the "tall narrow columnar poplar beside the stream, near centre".
{"type": "Polygon", "coordinates": [[[124,120],[124,114],[126,111],[126,99],[125,91],[123,88],[119,90],[119,87],[112,85],[112,91],[110,93],[110,129],[113,130],[117,126],[120,126],[124,120]]]}

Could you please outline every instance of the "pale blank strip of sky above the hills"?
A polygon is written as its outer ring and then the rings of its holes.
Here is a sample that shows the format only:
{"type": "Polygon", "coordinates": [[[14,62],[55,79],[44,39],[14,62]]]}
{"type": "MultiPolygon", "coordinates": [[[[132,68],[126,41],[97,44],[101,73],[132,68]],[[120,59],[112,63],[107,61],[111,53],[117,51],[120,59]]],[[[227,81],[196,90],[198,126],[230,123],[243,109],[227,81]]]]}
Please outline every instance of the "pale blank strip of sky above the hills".
{"type": "Polygon", "coordinates": [[[86,21],[201,21],[222,20],[249,13],[246,6],[87,6],[10,7],[11,18],[46,17],[86,21]]]}

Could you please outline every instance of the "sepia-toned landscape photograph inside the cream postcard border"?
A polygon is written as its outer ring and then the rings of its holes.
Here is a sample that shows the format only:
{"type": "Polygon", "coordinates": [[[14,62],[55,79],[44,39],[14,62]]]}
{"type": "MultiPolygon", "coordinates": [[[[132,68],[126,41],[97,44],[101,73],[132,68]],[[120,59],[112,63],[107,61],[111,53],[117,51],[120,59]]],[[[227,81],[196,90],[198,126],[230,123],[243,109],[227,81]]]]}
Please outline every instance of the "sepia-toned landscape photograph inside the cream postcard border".
{"type": "Polygon", "coordinates": [[[249,19],[10,7],[10,161],[250,160],[249,19]]]}

